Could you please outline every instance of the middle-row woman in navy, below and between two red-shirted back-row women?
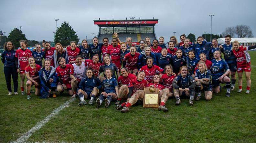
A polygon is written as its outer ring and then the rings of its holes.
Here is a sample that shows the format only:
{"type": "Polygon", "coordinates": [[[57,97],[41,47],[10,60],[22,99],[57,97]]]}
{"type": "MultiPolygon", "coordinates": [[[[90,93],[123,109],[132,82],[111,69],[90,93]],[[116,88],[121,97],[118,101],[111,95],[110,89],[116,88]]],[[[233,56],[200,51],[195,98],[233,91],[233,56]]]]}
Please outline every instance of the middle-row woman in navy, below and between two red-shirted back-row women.
{"type": "Polygon", "coordinates": [[[166,48],[161,50],[161,53],[155,53],[157,59],[157,65],[161,68],[165,68],[166,65],[171,64],[172,55],[168,53],[166,48]]]}

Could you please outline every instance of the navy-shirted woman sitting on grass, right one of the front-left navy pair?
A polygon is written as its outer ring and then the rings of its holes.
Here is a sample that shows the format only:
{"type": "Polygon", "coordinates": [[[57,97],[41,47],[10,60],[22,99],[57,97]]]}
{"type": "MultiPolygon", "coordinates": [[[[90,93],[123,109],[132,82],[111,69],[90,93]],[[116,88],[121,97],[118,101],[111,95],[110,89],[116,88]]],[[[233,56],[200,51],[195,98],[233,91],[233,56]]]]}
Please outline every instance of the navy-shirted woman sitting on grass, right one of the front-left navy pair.
{"type": "Polygon", "coordinates": [[[97,108],[100,108],[103,101],[105,102],[104,107],[108,108],[112,99],[115,100],[118,97],[118,84],[117,80],[112,77],[112,69],[106,68],[104,74],[106,75],[106,79],[102,82],[103,92],[101,92],[101,95],[96,100],[97,108]]]}

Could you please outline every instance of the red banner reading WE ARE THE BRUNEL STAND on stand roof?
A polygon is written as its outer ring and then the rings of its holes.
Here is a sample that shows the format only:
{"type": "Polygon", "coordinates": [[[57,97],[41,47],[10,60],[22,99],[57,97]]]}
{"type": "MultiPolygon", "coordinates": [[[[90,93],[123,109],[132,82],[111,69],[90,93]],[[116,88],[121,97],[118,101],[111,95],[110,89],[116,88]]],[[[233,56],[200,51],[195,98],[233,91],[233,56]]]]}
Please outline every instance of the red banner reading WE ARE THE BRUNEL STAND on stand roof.
{"type": "Polygon", "coordinates": [[[156,24],[158,21],[108,21],[108,22],[94,22],[97,25],[105,24],[156,24]]]}

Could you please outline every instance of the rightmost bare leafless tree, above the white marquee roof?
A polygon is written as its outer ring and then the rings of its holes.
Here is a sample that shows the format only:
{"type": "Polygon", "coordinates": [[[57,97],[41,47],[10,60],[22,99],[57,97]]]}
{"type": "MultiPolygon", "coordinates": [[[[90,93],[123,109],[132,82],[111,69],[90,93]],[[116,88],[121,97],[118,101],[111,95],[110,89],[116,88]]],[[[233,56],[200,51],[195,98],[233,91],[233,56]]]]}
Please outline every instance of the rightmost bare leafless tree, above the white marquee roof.
{"type": "Polygon", "coordinates": [[[247,25],[237,25],[235,27],[235,33],[238,38],[253,37],[251,28],[247,25]]]}

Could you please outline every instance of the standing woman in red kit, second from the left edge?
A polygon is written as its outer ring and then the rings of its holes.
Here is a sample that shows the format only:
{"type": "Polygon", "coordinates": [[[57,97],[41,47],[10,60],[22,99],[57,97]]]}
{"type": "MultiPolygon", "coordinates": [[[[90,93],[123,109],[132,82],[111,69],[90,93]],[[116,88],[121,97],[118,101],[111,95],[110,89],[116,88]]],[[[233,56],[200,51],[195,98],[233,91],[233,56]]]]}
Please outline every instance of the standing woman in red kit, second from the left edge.
{"type": "Polygon", "coordinates": [[[25,68],[27,67],[28,58],[32,56],[32,53],[27,47],[26,40],[20,40],[20,49],[15,52],[15,64],[17,72],[20,73],[20,89],[21,94],[25,95],[24,92],[24,80],[25,80],[25,68]]]}

